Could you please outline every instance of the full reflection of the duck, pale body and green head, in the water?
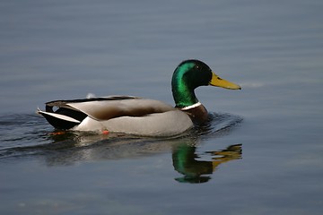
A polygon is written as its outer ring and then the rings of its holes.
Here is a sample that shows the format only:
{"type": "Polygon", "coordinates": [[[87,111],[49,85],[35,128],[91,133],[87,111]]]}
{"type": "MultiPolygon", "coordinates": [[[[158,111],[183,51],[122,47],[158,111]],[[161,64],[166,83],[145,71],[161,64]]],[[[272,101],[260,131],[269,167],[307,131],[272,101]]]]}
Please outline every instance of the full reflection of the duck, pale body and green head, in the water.
{"type": "Polygon", "coordinates": [[[220,164],[241,159],[242,152],[241,144],[230,145],[223,150],[199,151],[203,145],[199,145],[192,136],[165,140],[125,135],[64,135],[53,135],[55,143],[48,146],[61,151],[59,157],[57,153],[46,156],[48,166],[73,165],[85,160],[129,159],[171,151],[173,167],[183,175],[175,178],[180,183],[207,182],[220,164]]]}

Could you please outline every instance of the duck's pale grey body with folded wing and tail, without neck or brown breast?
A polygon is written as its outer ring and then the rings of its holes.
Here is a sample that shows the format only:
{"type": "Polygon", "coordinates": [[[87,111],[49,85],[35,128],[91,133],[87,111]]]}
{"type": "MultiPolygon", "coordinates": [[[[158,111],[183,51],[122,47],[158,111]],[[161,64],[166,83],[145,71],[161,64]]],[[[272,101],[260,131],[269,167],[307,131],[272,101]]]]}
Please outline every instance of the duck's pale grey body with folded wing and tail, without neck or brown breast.
{"type": "Polygon", "coordinates": [[[78,131],[103,128],[114,133],[173,136],[193,126],[185,112],[159,100],[135,97],[56,100],[38,113],[56,128],[78,131]]]}

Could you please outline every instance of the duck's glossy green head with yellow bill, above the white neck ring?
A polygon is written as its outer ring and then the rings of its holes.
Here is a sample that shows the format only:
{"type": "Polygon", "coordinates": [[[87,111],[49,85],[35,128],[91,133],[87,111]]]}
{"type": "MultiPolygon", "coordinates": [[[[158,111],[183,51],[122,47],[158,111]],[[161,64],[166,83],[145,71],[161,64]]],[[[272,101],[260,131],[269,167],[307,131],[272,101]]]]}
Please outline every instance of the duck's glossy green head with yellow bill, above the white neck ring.
{"type": "Polygon", "coordinates": [[[175,69],[171,79],[171,90],[176,107],[188,107],[198,102],[194,90],[199,86],[215,86],[240,90],[240,86],[216,75],[210,67],[199,60],[186,60],[175,69]]]}

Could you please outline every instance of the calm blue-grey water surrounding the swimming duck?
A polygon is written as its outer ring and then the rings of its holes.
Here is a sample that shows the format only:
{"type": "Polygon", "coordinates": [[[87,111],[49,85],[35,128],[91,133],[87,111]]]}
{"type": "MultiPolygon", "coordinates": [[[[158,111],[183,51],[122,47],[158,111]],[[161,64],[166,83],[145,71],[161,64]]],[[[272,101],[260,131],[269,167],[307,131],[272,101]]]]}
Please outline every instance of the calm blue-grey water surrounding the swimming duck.
{"type": "Polygon", "coordinates": [[[1,1],[0,213],[322,214],[322,10],[1,1]],[[212,121],[182,137],[55,134],[34,114],[88,93],[173,104],[170,77],[188,58],[242,90],[196,90],[212,121]]]}

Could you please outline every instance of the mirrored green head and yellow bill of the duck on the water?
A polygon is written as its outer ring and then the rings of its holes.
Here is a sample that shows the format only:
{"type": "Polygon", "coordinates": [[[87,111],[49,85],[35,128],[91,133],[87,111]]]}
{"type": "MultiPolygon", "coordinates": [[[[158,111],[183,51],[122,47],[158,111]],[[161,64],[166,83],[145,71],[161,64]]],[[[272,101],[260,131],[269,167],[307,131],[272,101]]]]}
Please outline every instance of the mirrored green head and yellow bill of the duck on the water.
{"type": "Polygon", "coordinates": [[[241,152],[241,144],[236,144],[225,150],[206,151],[212,160],[199,160],[201,156],[196,152],[196,146],[180,144],[172,150],[172,160],[175,170],[184,176],[175,179],[184,183],[207,182],[220,164],[241,159],[241,152]]]}

